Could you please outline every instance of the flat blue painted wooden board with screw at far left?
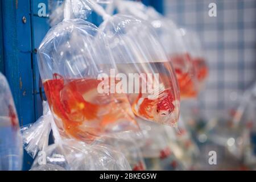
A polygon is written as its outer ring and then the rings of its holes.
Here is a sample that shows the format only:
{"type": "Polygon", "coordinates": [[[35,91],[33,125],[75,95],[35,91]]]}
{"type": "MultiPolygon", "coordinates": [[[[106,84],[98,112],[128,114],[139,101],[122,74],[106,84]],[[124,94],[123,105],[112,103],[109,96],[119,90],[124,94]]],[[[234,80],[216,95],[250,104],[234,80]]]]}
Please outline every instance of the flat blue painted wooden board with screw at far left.
{"type": "MultiPolygon", "coordinates": [[[[26,125],[35,121],[30,0],[2,1],[2,35],[5,75],[13,93],[20,125],[26,125]],[[23,17],[26,17],[26,23],[23,23],[23,17]]],[[[24,155],[24,163],[30,163],[27,155],[24,155]]]]}

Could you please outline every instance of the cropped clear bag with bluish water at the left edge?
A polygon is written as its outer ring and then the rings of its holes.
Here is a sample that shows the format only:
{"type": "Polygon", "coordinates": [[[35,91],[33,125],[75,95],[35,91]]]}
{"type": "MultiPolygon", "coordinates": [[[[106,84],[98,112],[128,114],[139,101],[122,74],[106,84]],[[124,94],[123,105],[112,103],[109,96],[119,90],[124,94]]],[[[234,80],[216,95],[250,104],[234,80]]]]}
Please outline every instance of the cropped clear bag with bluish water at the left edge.
{"type": "Polygon", "coordinates": [[[0,72],[0,171],[21,170],[22,137],[9,84],[0,72]]]}

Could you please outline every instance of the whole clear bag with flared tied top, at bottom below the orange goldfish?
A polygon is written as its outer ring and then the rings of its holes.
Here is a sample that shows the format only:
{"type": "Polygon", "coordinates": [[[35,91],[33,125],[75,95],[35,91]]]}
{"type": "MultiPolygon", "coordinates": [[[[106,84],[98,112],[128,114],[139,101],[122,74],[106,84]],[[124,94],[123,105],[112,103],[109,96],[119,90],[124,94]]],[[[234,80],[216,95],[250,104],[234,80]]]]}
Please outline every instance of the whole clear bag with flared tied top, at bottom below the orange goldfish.
{"type": "Polygon", "coordinates": [[[34,125],[23,129],[25,149],[33,156],[38,153],[32,171],[130,170],[125,156],[111,146],[61,139],[47,103],[43,105],[44,115],[34,125]],[[54,144],[48,146],[51,130],[54,144]]]}

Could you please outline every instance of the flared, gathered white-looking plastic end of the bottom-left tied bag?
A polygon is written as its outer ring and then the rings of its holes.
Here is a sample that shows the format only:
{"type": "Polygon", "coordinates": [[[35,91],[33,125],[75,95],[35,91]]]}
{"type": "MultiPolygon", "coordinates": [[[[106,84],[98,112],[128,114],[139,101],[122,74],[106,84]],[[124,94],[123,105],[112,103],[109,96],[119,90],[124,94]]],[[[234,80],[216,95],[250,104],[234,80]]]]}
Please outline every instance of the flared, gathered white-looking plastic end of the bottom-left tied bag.
{"type": "Polygon", "coordinates": [[[43,115],[35,123],[23,126],[20,131],[23,137],[23,147],[34,159],[39,151],[48,146],[51,132],[52,113],[46,101],[43,102],[43,115]]]}

